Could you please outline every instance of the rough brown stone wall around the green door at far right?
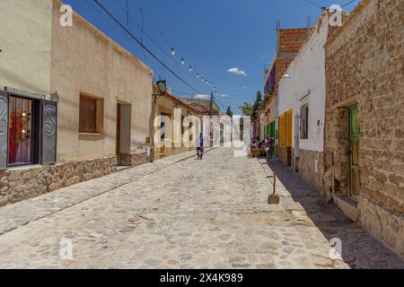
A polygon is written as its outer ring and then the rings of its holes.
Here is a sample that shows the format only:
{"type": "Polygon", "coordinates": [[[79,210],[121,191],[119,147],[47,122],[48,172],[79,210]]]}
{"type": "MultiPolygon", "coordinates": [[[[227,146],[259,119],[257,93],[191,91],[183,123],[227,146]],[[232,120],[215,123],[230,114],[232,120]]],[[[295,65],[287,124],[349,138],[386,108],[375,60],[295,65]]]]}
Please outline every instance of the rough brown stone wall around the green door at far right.
{"type": "Polygon", "coordinates": [[[359,223],[404,257],[402,0],[363,0],[326,44],[326,190],[347,194],[347,106],[359,108],[359,223]]]}

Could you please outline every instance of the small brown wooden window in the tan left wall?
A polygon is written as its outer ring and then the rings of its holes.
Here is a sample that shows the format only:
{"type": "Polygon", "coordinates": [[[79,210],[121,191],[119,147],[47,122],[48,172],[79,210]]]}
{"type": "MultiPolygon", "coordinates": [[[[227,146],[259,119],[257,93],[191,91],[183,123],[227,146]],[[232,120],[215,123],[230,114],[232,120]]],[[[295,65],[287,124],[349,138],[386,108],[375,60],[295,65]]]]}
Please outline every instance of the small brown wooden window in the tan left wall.
{"type": "Polygon", "coordinates": [[[80,95],[79,132],[101,134],[103,125],[103,100],[80,95]]]}

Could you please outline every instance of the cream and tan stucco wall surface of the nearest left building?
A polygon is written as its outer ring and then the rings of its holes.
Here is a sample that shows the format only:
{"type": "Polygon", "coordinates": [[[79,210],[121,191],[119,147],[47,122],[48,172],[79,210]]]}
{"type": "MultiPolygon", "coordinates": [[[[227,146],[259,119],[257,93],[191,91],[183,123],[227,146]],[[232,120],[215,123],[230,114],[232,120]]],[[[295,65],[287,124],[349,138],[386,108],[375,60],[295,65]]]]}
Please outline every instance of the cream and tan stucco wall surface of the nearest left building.
{"type": "Polygon", "coordinates": [[[58,0],[0,0],[0,87],[57,93],[57,163],[116,154],[117,102],[131,105],[131,152],[145,147],[153,72],[74,13],[59,23],[58,0]],[[101,135],[79,135],[83,92],[104,100],[101,135]]]}

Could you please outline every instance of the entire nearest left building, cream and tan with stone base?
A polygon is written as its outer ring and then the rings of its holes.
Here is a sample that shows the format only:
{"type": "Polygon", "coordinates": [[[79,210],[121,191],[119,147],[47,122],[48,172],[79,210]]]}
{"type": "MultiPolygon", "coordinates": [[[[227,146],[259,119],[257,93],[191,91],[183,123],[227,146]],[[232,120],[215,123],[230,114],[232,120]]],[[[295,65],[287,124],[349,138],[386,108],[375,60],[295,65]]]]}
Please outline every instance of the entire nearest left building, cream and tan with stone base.
{"type": "Polygon", "coordinates": [[[149,161],[153,72],[57,0],[2,0],[0,206],[149,161]]]}

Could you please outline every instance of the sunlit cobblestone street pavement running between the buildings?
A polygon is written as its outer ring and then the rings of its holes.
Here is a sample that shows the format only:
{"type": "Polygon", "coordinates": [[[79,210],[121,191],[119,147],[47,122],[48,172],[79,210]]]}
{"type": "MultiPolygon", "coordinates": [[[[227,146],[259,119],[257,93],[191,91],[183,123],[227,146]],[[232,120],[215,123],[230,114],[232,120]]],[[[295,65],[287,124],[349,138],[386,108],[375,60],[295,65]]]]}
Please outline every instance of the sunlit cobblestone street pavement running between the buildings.
{"type": "Polygon", "coordinates": [[[279,163],[230,149],[123,170],[0,209],[3,268],[404,268],[279,163]],[[329,239],[342,259],[329,259],[329,239]],[[73,259],[62,260],[71,239],[73,259]]]}

